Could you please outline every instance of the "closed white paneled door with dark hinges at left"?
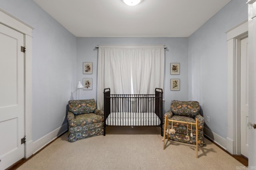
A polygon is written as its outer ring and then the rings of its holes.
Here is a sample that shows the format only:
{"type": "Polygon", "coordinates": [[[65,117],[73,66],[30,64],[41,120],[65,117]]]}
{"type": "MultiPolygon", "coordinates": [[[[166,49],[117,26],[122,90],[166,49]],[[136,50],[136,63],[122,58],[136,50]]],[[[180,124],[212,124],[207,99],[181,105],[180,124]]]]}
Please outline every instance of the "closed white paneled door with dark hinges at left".
{"type": "Polygon", "coordinates": [[[0,169],[24,158],[24,35],[0,24],[0,169]]]}

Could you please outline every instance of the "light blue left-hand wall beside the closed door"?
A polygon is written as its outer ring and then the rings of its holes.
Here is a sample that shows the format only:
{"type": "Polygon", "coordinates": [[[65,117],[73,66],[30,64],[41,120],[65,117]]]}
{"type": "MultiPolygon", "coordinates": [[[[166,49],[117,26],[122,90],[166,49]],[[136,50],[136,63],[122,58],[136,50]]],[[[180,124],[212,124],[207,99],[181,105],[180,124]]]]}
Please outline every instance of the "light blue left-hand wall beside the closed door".
{"type": "Polygon", "coordinates": [[[32,27],[32,140],[61,127],[76,90],[76,37],[32,0],[0,0],[32,27]]]}

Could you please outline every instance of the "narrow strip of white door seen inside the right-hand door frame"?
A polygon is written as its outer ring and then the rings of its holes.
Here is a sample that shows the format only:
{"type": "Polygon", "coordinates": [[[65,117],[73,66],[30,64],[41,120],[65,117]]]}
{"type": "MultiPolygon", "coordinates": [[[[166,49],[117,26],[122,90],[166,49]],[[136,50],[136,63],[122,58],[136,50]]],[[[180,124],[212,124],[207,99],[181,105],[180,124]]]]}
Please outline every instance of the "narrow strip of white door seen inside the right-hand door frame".
{"type": "Polygon", "coordinates": [[[241,154],[248,157],[248,37],[241,40],[240,125],[241,154]]]}

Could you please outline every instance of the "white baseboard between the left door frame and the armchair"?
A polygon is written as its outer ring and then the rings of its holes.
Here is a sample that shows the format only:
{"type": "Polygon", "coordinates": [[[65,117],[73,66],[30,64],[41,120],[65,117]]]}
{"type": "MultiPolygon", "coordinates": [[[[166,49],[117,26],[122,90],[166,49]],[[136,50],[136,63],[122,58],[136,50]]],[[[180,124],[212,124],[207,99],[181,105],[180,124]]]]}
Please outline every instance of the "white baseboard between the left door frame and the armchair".
{"type": "Polygon", "coordinates": [[[50,143],[51,141],[56,139],[58,136],[60,136],[61,134],[63,134],[67,130],[68,130],[68,123],[65,123],[61,127],[58,127],[54,131],[48,133],[44,137],[41,137],[40,139],[35,141],[33,143],[34,153],[36,153],[38,150],[42,149],[44,146],[46,146],[48,143],[50,143]]]}

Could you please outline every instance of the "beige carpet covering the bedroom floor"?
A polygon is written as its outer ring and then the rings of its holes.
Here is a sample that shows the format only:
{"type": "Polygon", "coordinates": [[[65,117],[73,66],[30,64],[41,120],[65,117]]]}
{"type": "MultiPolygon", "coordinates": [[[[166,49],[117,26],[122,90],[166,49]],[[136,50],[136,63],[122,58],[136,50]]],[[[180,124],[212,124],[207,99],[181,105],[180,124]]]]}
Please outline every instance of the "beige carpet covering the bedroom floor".
{"type": "Polygon", "coordinates": [[[235,170],[243,166],[206,140],[206,147],[166,140],[159,127],[107,127],[100,135],[73,143],[67,133],[18,170],[235,170]]]}

